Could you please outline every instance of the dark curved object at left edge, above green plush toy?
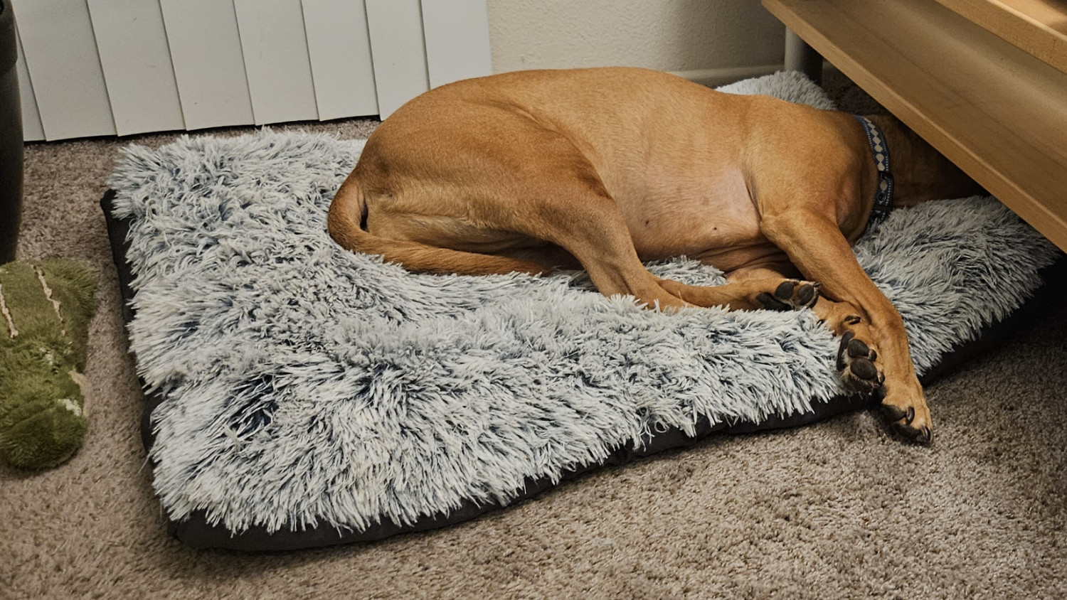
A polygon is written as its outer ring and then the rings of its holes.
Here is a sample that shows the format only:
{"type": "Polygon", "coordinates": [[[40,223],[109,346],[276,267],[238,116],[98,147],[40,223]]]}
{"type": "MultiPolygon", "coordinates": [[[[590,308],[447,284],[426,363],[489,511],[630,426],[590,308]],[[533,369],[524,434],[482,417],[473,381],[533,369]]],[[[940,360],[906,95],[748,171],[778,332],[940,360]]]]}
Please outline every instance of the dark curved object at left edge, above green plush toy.
{"type": "Polygon", "coordinates": [[[22,109],[10,0],[0,0],[0,264],[15,260],[22,209],[22,109]]]}

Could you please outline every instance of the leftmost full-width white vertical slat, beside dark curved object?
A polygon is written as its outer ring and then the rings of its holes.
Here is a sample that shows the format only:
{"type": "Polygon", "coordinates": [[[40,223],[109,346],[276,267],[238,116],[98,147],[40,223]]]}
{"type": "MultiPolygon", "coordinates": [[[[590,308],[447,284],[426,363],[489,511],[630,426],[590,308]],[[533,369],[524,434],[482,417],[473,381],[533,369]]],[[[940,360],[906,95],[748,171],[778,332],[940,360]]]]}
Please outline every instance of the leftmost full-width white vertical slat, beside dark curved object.
{"type": "Polygon", "coordinates": [[[114,134],[85,0],[18,0],[13,9],[45,136],[114,134]]]}

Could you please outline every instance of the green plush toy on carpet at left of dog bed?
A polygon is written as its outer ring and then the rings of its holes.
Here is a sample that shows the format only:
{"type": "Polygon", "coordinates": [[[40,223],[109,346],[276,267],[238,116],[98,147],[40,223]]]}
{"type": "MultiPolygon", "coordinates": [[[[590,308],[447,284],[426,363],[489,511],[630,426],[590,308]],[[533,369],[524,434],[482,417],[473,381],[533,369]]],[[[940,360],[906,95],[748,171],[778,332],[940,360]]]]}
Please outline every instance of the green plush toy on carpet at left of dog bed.
{"type": "Polygon", "coordinates": [[[81,448],[96,275],[63,259],[0,266],[0,459],[54,467],[81,448]]]}

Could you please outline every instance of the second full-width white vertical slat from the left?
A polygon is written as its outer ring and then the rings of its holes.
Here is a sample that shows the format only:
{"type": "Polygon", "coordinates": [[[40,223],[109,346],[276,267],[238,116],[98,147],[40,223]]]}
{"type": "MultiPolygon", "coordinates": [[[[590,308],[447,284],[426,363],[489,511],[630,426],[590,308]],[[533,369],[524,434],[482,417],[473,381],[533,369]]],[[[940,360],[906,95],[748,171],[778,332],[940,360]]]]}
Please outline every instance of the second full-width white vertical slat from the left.
{"type": "Polygon", "coordinates": [[[159,0],[89,0],[120,135],[184,129],[159,0]]]}

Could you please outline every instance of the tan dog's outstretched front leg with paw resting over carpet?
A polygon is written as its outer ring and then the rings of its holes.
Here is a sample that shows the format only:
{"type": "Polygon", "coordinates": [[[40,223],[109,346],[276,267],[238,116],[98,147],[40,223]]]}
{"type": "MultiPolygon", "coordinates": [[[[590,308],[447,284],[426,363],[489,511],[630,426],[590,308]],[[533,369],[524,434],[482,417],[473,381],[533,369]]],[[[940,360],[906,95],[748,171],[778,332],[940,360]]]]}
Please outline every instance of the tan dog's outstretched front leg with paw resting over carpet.
{"type": "Polygon", "coordinates": [[[904,321],[857,262],[838,225],[826,216],[800,209],[764,214],[760,227],[805,277],[822,283],[825,297],[848,303],[861,312],[858,317],[870,324],[881,353],[886,376],[882,406],[902,433],[928,443],[930,413],[911,362],[904,321]]]}

